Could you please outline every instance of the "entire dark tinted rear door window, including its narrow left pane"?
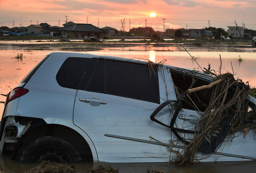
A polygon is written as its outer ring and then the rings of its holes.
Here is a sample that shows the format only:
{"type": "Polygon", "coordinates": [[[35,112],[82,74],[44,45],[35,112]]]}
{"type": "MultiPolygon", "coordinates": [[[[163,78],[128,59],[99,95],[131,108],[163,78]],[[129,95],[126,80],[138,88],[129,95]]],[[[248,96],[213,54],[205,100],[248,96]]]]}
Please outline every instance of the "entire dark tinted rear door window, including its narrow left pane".
{"type": "Polygon", "coordinates": [[[160,103],[157,70],[150,75],[146,64],[98,59],[92,71],[79,89],[160,103]]]}

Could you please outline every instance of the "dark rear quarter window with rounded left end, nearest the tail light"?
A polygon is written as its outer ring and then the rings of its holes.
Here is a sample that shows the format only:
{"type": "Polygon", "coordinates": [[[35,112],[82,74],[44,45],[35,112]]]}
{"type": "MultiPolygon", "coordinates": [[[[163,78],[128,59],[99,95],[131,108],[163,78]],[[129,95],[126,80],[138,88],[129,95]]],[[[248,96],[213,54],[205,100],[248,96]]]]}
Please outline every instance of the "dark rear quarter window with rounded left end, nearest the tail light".
{"type": "Polygon", "coordinates": [[[83,84],[87,85],[96,59],[68,57],[60,67],[57,75],[57,83],[65,88],[78,89],[83,80],[83,84]]]}

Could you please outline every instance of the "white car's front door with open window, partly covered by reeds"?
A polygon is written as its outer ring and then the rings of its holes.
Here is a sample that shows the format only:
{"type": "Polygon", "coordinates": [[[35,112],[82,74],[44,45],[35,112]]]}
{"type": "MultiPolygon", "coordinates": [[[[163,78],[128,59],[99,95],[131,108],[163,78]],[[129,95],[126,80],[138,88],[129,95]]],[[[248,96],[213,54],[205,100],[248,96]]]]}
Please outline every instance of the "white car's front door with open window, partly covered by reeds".
{"type": "MultiPolygon", "coordinates": [[[[168,72],[168,75],[170,75],[172,79],[170,85],[173,85],[176,88],[176,95],[179,99],[164,102],[156,109],[156,112],[154,112],[154,115],[152,116],[157,117],[158,112],[170,103],[175,101],[178,103],[175,111],[170,112],[172,120],[168,126],[160,121],[155,120],[155,122],[170,128],[172,131],[172,139],[170,140],[172,151],[181,152],[184,149],[184,146],[188,145],[193,140],[195,126],[197,130],[200,129],[200,124],[197,124],[197,122],[200,120],[202,112],[207,107],[207,101],[209,100],[208,94],[211,93],[211,91],[208,90],[206,92],[204,90],[202,92],[191,93],[189,96],[184,96],[188,88],[208,85],[209,81],[203,79],[200,74],[196,74],[196,72],[191,72],[186,69],[170,68],[168,69],[168,72]]],[[[154,120],[153,117],[152,119],[154,120]]],[[[182,154],[184,154],[184,152],[182,154]]],[[[177,160],[179,158],[180,155],[177,155],[177,152],[171,152],[171,160],[177,160]]]]}

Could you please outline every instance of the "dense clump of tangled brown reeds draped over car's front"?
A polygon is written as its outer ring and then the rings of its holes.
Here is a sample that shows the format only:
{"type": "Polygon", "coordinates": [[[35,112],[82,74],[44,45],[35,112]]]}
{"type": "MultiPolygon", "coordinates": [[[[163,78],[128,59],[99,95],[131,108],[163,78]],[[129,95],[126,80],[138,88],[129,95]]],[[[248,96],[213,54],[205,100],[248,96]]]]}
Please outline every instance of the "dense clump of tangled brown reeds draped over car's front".
{"type": "MultiPolygon", "coordinates": [[[[256,128],[256,113],[246,99],[250,93],[248,83],[235,80],[231,73],[218,75],[215,80],[219,79],[221,83],[203,90],[210,95],[210,101],[195,124],[194,138],[186,147],[180,164],[194,162],[198,151],[212,153],[226,136],[233,134],[234,137],[234,132],[256,128]]],[[[185,99],[188,96],[183,94],[185,99]]],[[[194,107],[196,109],[196,105],[194,107]]]]}

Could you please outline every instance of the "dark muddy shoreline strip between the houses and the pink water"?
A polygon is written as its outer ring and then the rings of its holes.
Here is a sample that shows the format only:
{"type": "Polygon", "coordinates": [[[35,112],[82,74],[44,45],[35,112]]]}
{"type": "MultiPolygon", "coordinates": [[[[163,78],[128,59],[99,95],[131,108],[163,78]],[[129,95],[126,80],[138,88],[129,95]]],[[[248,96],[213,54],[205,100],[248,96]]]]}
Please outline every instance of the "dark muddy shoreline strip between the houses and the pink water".
{"type": "MultiPolygon", "coordinates": [[[[256,46],[253,46],[248,40],[217,40],[217,39],[180,39],[168,41],[154,41],[154,40],[124,40],[124,41],[101,41],[101,42],[84,42],[81,39],[73,39],[71,41],[60,41],[55,39],[50,41],[44,40],[0,40],[0,49],[13,49],[19,47],[23,50],[52,50],[52,51],[97,51],[106,48],[129,48],[130,51],[136,50],[138,46],[149,47],[155,51],[170,51],[164,48],[178,47],[174,51],[185,51],[182,47],[184,45],[190,51],[201,49],[207,51],[228,51],[228,52],[256,52],[256,46]],[[162,47],[162,49],[161,49],[162,47]]],[[[143,50],[142,50],[143,51],[143,50]]],[[[145,49],[144,51],[148,51],[145,49]]]]}

